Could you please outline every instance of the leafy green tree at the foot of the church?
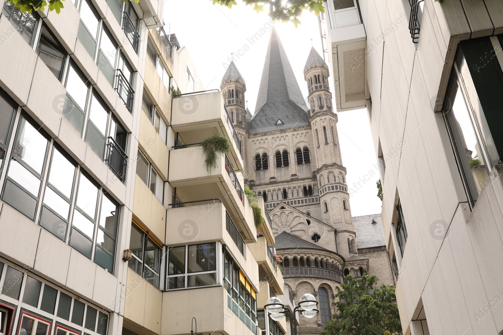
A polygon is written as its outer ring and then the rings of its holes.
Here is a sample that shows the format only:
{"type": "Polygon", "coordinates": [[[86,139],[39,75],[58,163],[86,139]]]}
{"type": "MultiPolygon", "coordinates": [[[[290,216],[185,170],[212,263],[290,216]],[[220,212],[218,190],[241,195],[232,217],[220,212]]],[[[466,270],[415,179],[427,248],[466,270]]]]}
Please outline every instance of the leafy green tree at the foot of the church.
{"type": "Polygon", "coordinates": [[[398,307],[395,303],[395,287],[381,285],[376,276],[362,276],[354,279],[345,277],[348,284],[342,283],[344,290],[336,297],[337,313],[333,314],[321,335],[385,335],[401,334],[402,327],[398,307]]]}

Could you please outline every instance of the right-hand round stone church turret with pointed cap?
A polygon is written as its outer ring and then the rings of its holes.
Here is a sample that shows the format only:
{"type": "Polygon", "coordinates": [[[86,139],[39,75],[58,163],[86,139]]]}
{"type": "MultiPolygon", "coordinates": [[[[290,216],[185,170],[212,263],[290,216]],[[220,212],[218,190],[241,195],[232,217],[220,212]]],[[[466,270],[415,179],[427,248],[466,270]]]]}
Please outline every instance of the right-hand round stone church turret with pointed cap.
{"type": "Polygon", "coordinates": [[[309,93],[313,158],[318,167],[314,173],[318,180],[322,220],[337,229],[337,243],[342,250],[347,250],[342,254],[351,257],[357,253],[356,238],[349,206],[346,168],[342,165],[337,133],[337,114],[333,112],[328,76],[325,61],[311,48],[304,67],[304,79],[309,93]]]}

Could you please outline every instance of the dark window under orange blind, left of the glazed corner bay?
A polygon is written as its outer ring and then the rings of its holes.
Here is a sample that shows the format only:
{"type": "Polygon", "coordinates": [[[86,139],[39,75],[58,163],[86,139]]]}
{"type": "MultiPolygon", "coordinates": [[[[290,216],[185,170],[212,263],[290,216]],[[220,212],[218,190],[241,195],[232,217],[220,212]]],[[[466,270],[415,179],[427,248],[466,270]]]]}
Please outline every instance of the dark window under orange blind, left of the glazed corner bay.
{"type": "Polygon", "coordinates": [[[131,224],[129,250],[132,252],[132,257],[128,266],[150,284],[158,287],[160,248],[135,224],[131,224]]]}

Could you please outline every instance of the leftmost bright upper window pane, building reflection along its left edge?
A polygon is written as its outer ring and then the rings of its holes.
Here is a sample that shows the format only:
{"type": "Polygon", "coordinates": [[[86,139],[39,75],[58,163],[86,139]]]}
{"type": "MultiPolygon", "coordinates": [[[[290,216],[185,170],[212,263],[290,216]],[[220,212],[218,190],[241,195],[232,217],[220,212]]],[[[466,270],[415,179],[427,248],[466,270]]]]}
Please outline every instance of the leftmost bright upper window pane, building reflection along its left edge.
{"type": "Polygon", "coordinates": [[[47,139],[43,137],[26,119],[21,119],[19,135],[14,144],[14,154],[33,170],[42,174],[47,139]]]}

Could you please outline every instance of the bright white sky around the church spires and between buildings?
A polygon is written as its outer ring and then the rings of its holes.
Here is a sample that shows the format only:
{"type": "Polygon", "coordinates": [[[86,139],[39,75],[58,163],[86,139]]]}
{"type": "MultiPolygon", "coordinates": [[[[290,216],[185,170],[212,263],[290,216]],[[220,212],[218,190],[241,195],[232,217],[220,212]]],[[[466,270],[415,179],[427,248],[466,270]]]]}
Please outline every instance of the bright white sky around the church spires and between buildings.
{"type": "MultiPolygon", "coordinates": [[[[234,63],[246,82],[244,94],[247,106],[253,114],[272,28],[266,13],[257,14],[250,6],[239,0],[237,2],[238,5],[230,10],[213,5],[211,0],[166,0],[164,30],[176,34],[180,45],[188,48],[205,89],[220,88],[226,70],[224,66],[234,52],[234,63]],[[262,37],[252,44],[248,39],[256,33],[262,37]]],[[[276,23],[275,27],[302,94],[307,97],[303,69],[311,46],[322,55],[321,40],[314,13],[304,13],[300,21],[302,24],[298,28],[292,23],[276,23]]],[[[375,184],[379,174],[373,167],[376,158],[367,111],[360,109],[340,113],[338,129],[348,187],[359,189],[350,197],[352,215],[380,213],[381,201],[376,196],[375,184]],[[368,182],[361,182],[362,187],[352,186],[360,178],[364,179],[370,170],[375,175],[368,182]]]]}

